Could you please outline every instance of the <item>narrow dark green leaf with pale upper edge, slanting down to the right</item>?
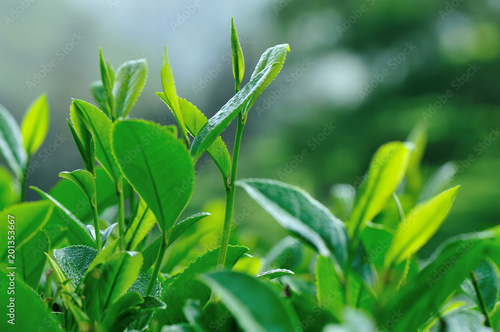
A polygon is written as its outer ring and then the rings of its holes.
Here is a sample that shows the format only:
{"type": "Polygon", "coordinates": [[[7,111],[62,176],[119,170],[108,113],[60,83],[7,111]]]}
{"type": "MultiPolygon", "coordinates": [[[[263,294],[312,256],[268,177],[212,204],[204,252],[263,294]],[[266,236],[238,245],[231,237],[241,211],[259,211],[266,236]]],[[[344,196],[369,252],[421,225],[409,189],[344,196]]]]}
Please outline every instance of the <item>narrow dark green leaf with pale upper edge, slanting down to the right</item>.
{"type": "MultiPolygon", "coordinates": [[[[68,209],[66,209],[59,201],[53,198],[51,195],[47,194],[43,190],[30,186],[29,188],[36,191],[40,197],[46,198],[51,201],[54,206],[54,216],[52,216],[48,222],[47,226],[61,231],[61,228],[67,228],[70,233],[72,233],[78,243],[82,243],[85,246],[95,248],[95,242],[92,241],[88,233],[85,231],[85,225],[78,220],[68,209]]],[[[69,238],[69,237],[68,237],[69,238]]]]}

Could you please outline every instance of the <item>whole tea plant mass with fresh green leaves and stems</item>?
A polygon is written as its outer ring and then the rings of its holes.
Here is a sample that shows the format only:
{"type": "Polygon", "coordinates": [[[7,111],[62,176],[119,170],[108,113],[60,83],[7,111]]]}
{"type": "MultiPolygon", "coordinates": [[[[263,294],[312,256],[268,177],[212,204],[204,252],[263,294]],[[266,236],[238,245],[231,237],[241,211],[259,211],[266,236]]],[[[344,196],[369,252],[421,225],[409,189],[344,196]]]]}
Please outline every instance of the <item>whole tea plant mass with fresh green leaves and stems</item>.
{"type": "Polygon", "coordinates": [[[450,164],[423,182],[422,126],[406,142],[382,145],[357,188],[332,187],[337,217],[297,187],[236,180],[248,112],[280,71],[289,47],[268,48],[241,87],[245,65],[232,21],[230,40],[235,95],[210,119],[177,96],[165,47],[163,91],[156,95],[177,126],[130,118],[147,63],[128,61],[115,71],[100,52],[101,77],[90,85],[97,106],[73,99],[67,120],[84,169],[60,173],[63,179],[49,192],[30,187],[41,197],[37,202],[22,202],[23,188],[29,158],[47,132],[46,98],[33,102],[20,129],[0,107],[0,152],[13,173],[0,169],[1,279],[15,280],[15,306],[29,310],[29,319],[10,314],[2,327],[47,332],[498,327],[497,228],[449,239],[430,257],[418,258],[458,191],[446,188],[450,164]],[[233,120],[231,157],[219,135],[233,120]],[[199,239],[194,233],[194,241],[182,242],[184,232],[209,215],[178,221],[193,192],[194,164],[204,152],[219,169],[226,193],[221,243],[182,266],[199,239]],[[241,272],[249,249],[229,245],[236,186],[290,233],[259,261],[256,275],[241,272]],[[152,241],[156,224],[161,235],[152,241]],[[231,272],[237,264],[240,272],[231,272]],[[174,269],[179,265],[183,269],[174,269]],[[15,278],[8,267],[17,268],[15,278]]]}

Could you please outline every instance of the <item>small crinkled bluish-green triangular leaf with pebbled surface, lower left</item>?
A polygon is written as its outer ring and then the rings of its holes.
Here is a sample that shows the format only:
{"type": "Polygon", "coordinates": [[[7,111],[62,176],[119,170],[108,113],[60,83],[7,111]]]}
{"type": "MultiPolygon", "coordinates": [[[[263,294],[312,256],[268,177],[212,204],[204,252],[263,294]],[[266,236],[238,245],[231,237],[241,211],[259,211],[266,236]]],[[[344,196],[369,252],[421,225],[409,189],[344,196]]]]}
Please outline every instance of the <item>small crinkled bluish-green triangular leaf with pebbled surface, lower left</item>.
{"type": "Polygon", "coordinates": [[[54,258],[64,275],[71,279],[74,287],[83,280],[85,273],[98,251],[87,246],[70,246],[54,249],[54,258]]]}

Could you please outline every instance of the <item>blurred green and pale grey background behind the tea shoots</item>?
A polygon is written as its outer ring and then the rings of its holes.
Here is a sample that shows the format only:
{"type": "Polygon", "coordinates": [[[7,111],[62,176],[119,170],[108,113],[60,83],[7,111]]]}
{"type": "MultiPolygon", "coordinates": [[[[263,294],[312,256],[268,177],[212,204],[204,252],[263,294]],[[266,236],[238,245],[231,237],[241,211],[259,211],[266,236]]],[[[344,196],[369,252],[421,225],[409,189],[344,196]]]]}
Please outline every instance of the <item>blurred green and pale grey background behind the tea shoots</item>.
{"type": "MultiPolygon", "coordinates": [[[[498,223],[500,0],[1,0],[0,103],[18,121],[41,93],[50,104],[49,133],[28,184],[48,191],[59,172],[83,167],[65,119],[70,98],[94,102],[88,84],[99,78],[99,47],[115,68],[148,61],[132,117],[174,123],[154,96],[165,44],[178,94],[213,115],[234,93],[231,16],[245,56],[244,83],[267,47],[291,48],[248,115],[239,178],[298,185],[332,206],[332,185],[354,184],[379,145],[404,140],[422,122],[424,181],[445,162],[473,156],[449,183],[462,187],[422,255],[444,238],[498,223]]],[[[222,134],[230,151],[234,131],[222,134]]],[[[202,165],[185,214],[211,212],[199,227],[216,234],[223,186],[216,167],[204,157],[202,165]]],[[[27,198],[38,199],[30,190],[27,198]]],[[[231,242],[257,254],[285,236],[239,189],[234,219],[231,242]]],[[[210,239],[205,245],[214,247],[210,239]]]]}

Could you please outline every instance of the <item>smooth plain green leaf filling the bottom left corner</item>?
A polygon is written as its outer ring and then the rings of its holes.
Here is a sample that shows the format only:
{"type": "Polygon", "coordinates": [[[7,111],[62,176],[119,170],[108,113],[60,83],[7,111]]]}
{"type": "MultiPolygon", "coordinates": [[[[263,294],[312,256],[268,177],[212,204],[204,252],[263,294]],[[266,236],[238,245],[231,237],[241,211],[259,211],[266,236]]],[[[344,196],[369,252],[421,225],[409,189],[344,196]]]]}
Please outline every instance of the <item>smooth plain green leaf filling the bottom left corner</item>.
{"type": "MultiPolygon", "coordinates": [[[[9,284],[9,273],[12,273],[12,270],[7,271],[3,267],[0,268],[0,283],[2,285],[9,284]]],[[[2,331],[39,331],[39,328],[42,327],[44,332],[60,332],[57,323],[45,309],[40,296],[19,280],[17,273],[14,275],[16,276],[14,304],[18,311],[15,312],[15,319],[13,320],[15,325],[10,325],[7,321],[11,318],[6,315],[7,310],[3,310],[4,314],[1,323],[2,331]],[[28,314],[28,316],[20,315],[22,310],[27,311],[26,314],[28,314]]],[[[2,296],[2,306],[6,308],[8,304],[7,299],[9,298],[6,295],[6,288],[4,292],[5,295],[2,296]]]]}

